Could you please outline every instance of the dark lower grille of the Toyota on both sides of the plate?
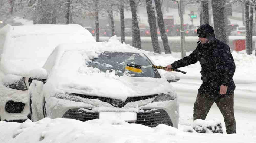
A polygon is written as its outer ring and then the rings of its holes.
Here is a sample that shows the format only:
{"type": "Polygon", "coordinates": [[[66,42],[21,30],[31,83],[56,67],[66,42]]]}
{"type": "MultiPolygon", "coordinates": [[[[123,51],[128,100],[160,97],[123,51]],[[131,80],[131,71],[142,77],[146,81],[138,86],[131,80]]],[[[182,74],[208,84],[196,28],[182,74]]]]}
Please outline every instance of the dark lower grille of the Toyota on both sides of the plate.
{"type": "MultiPolygon", "coordinates": [[[[90,109],[87,109],[90,110],[90,109]]],[[[69,109],[62,118],[88,121],[99,118],[98,112],[88,112],[80,109],[69,109]]],[[[142,124],[149,127],[156,127],[158,124],[166,124],[173,127],[170,117],[163,109],[142,109],[137,113],[136,124],[142,124]]]]}

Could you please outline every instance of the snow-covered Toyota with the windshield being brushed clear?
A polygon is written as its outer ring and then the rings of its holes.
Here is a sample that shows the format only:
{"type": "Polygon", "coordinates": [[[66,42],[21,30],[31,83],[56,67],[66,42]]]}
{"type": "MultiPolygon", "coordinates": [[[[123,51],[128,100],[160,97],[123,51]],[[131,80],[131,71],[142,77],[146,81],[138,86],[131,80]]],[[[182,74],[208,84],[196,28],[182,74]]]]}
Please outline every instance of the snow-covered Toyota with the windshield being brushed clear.
{"type": "Polygon", "coordinates": [[[177,94],[169,82],[179,77],[153,68],[131,72],[125,70],[128,63],[153,64],[144,50],[121,44],[116,36],[59,45],[42,68],[30,72],[30,119],[99,118],[177,128],[177,94]]]}

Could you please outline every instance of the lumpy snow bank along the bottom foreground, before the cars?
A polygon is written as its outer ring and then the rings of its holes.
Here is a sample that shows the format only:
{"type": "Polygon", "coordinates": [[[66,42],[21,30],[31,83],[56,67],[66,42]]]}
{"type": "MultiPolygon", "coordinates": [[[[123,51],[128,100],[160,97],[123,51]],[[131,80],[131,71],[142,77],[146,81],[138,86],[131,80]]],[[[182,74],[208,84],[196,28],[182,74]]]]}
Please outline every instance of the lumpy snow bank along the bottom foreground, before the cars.
{"type": "Polygon", "coordinates": [[[155,128],[129,124],[121,120],[44,118],[37,122],[0,122],[1,143],[252,143],[238,134],[185,133],[160,124],[155,128]]]}

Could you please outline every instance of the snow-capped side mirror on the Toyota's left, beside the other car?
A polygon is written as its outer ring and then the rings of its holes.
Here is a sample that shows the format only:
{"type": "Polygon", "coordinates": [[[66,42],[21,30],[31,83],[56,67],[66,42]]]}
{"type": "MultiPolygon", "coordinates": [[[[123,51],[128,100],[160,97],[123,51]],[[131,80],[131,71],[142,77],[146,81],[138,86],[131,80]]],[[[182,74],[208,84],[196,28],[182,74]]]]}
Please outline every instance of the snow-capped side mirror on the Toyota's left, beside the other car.
{"type": "Polygon", "coordinates": [[[37,80],[37,81],[43,82],[45,84],[46,79],[48,78],[48,73],[47,73],[46,69],[38,68],[38,69],[31,70],[29,72],[29,76],[33,80],[37,80]]]}

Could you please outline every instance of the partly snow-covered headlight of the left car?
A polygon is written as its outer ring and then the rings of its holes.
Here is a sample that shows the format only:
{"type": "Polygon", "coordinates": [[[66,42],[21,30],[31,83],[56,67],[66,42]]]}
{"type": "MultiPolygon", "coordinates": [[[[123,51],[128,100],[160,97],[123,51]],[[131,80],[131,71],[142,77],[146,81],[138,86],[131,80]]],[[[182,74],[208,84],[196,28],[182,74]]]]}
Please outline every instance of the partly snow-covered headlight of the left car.
{"type": "Polygon", "coordinates": [[[3,84],[6,87],[17,90],[27,90],[24,77],[8,74],[3,79],[3,84]]]}

